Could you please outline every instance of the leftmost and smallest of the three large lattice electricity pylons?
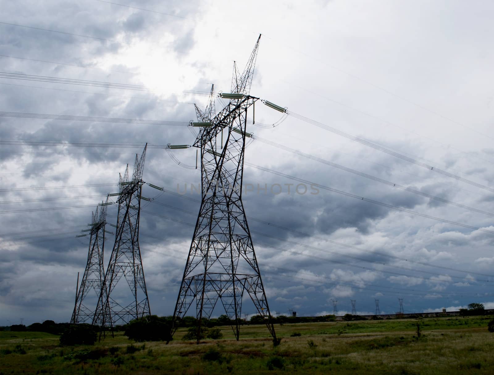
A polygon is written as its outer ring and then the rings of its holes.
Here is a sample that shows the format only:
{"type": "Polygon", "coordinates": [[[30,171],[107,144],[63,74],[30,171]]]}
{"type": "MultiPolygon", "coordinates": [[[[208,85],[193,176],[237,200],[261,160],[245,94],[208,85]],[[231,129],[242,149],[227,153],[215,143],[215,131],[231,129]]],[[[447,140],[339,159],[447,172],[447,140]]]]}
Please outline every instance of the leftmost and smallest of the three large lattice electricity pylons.
{"type": "MultiPolygon", "coordinates": [[[[87,253],[86,268],[82,275],[81,286],[77,291],[76,304],[70,320],[72,324],[86,323],[88,320],[92,322],[94,310],[87,307],[83,301],[88,293],[92,294],[90,292],[91,290],[94,291],[95,298],[99,298],[101,294],[101,286],[105,278],[103,253],[105,248],[106,206],[109,204],[111,203],[108,203],[107,197],[106,203],[101,202],[96,207],[96,210],[91,215],[91,228],[84,230],[89,232],[89,250],[87,253]]],[[[85,235],[82,234],[80,237],[82,236],[85,235]]]]}

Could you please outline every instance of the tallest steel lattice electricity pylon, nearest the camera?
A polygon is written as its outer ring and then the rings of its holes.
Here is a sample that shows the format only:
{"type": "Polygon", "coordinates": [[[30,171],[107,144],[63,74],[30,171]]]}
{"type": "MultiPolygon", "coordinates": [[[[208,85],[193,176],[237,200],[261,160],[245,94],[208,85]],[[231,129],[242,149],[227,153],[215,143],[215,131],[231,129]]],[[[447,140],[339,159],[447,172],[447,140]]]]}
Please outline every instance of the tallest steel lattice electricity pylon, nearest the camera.
{"type": "Polygon", "coordinates": [[[220,94],[230,100],[228,105],[214,115],[211,88],[206,111],[196,106],[199,122],[192,123],[200,129],[194,146],[201,150],[202,201],[173,312],[171,335],[196,300],[198,343],[201,326],[207,323],[218,300],[239,339],[245,291],[264,317],[273,342],[277,342],[242,203],[244,151],[246,137],[250,137],[246,132],[247,109],[259,99],[249,95],[259,39],[260,36],[242,75],[234,63],[231,93],[220,94]]]}

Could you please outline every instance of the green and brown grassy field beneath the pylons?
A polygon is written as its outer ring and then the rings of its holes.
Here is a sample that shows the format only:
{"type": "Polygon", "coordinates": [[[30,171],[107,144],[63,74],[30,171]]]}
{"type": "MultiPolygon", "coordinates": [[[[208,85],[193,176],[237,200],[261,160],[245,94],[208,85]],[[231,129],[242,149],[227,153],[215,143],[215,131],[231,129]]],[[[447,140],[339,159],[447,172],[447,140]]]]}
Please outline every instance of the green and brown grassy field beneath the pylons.
{"type": "Polygon", "coordinates": [[[121,333],[94,346],[59,337],[0,332],[5,374],[494,374],[492,316],[243,326],[241,339],[134,343],[121,333]],[[417,337],[417,323],[421,336],[417,337]],[[298,336],[300,334],[300,336],[298,336]],[[292,336],[293,335],[293,336],[292,336]]]}

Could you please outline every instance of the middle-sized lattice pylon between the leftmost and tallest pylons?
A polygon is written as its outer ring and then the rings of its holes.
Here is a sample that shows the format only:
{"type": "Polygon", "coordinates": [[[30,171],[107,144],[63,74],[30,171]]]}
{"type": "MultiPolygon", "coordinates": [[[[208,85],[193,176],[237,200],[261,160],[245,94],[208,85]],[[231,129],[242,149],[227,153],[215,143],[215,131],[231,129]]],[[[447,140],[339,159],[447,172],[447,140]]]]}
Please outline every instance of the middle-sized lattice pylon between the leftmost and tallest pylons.
{"type": "Polygon", "coordinates": [[[105,328],[112,329],[119,322],[128,323],[151,314],[139,249],[139,215],[146,149],[147,144],[140,158],[135,155],[132,179],[129,180],[127,164],[124,176],[120,175],[119,178],[120,192],[110,194],[118,195],[115,244],[105,273],[105,288],[101,290],[93,319],[93,324],[100,324],[103,331],[105,328]],[[128,298],[128,292],[124,292],[126,288],[122,283],[116,290],[122,276],[130,288],[131,298],[128,298]]]}

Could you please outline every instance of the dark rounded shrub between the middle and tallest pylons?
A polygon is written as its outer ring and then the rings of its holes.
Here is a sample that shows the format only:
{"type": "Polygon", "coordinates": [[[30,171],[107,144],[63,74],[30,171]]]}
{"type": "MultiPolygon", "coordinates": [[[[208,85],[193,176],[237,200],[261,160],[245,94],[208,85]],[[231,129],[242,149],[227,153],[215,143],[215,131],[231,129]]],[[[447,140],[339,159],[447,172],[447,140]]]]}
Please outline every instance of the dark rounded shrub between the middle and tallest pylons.
{"type": "Polygon", "coordinates": [[[124,335],[134,341],[171,340],[171,320],[156,315],[131,320],[125,327],[124,335]]]}

